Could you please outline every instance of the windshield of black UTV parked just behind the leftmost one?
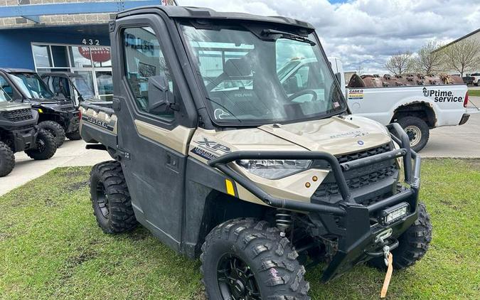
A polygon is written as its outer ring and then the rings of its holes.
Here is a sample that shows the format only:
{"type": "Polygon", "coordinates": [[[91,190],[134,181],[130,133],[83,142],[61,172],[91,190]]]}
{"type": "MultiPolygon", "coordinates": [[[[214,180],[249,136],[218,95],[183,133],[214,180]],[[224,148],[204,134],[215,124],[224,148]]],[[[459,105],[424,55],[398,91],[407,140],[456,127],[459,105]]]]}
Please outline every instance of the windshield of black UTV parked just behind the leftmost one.
{"type": "Polygon", "coordinates": [[[30,99],[52,98],[53,92],[48,90],[47,85],[34,73],[11,73],[11,80],[15,82],[24,95],[30,99]]]}

